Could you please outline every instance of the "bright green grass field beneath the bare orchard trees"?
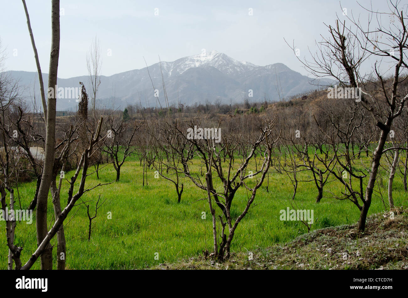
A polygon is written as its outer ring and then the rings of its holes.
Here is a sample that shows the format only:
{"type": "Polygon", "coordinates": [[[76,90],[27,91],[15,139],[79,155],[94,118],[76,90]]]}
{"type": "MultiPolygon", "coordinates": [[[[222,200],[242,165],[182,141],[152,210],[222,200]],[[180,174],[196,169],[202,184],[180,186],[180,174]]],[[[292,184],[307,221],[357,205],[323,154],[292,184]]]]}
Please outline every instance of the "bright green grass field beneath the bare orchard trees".
{"type": "MultiPolygon", "coordinates": [[[[160,263],[175,263],[197,257],[202,250],[211,250],[211,214],[208,203],[202,200],[206,194],[185,180],[186,189],[182,202],[177,204],[177,194],[171,182],[155,179],[154,170],[149,170],[148,185],[142,186],[142,171],[139,162],[131,158],[122,167],[120,182],[95,188],[82,197],[84,202],[93,200],[86,203],[91,205],[91,210],[99,194],[106,202],[93,220],[91,241],[88,241],[89,221],[84,204],[76,206],[65,221],[67,269],[141,269],[160,263]],[[202,212],[206,213],[206,219],[202,219],[202,212]],[[109,213],[111,219],[108,219],[109,213]],[[158,259],[155,259],[157,254],[158,259]]],[[[65,173],[65,176],[71,177],[71,173],[65,173]]],[[[386,179],[386,173],[383,176],[386,179]]],[[[100,170],[100,180],[96,179],[96,174],[88,177],[87,188],[113,180],[115,170],[113,165],[109,164],[100,170]]],[[[394,186],[395,205],[406,206],[407,193],[404,192],[398,174],[394,186]]],[[[384,200],[385,188],[386,183],[382,191],[384,200]]],[[[68,182],[64,182],[61,191],[63,208],[67,204],[67,189],[68,182]]],[[[326,190],[339,193],[343,187],[330,183],[326,190]]],[[[27,208],[34,191],[34,182],[19,185],[16,208],[19,208],[19,197],[22,208],[27,208]]],[[[239,224],[231,250],[238,254],[246,254],[247,251],[256,249],[262,251],[307,232],[306,227],[299,221],[279,220],[279,210],[292,208],[292,193],[292,185],[285,175],[271,173],[269,192],[266,191],[266,184],[257,192],[256,206],[251,208],[251,212],[239,224]]],[[[314,183],[300,183],[295,199],[296,209],[314,210],[312,230],[350,225],[358,220],[359,210],[351,202],[324,197],[320,204],[316,204],[316,195],[314,183]]],[[[235,195],[232,210],[234,217],[243,210],[246,197],[244,190],[235,195]]],[[[375,197],[369,215],[383,212],[387,203],[380,197],[375,197]]],[[[35,214],[33,217],[31,225],[20,222],[16,228],[15,243],[24,248],[23,263],[36,248],[35,214]]],[[[51,226],[54,218],[51,199],[48,218],[51,226]]],[[[4,223],[2,228],[4,229],[4,223]]],[[[55,245],[55,242],[53,239],[51,243],[55,245]]],[[[0,234],[0,243],[5,243],[4,231],[0,234]]],[[[7,251],[6,245],[0,247],[0,269],[6,269],[7,251]]],[[[53,254],[56,258],[56,249],[53,254]]],[[[39,262],[33,268],[39,269],[39,262]]]]}

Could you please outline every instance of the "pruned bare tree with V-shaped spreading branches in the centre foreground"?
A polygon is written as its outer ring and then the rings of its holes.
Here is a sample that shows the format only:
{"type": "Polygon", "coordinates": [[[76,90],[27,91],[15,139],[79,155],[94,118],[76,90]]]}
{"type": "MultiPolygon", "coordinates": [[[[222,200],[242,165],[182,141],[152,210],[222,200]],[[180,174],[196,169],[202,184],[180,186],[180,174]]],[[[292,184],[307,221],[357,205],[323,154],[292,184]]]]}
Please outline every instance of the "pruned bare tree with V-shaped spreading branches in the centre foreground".
{"type": "MultiPolygon", "coordinates": [[[[191,125],[191,127],[193,126],[191,125]]],[[[272,149],[279,138],[273,134],[273,121],[265,121],[263,126],[257,129],[256,139],[253,138],[253,134],[244,134],[234,130],[229,135],[220,138],[220,142],[215,142],[214,139],[191,139],[187,137],[186,131],[174,126],[173,128],[177,129],[180,136],[184,136],[191,142],[194,147],[193,154],[199,158],[204,170],[205,180],[202,180],[202,176],[193,173],[190,166],[186,164],[184,175],[206,193],[213,222],[214,252],[212,255],[219,260],[228,259],[235,230],[251,208],[256,192],[264,182],[271,164],[272,149]],[[222,161],[224,151],[228,156],[225,163],[222,161]],[[257,164],[254,165],[257,155],[262,156],[262,158],[259,158],[257,164]],[[250,164],[250,162],[252,163],[250,164]],[[248,167],[256,168],[256,170],[249,173],[248,167]],[[255,180],[252,180],[254,177],[255,180]],[[259,178],[256,179],[257,177],[259,178]],[[220,182],[221,187],[217,186],[219,184],[216,181],[220,182]],[[235,194],[241,187],[247,191],[246,205],[238,217],[234,217],[231,215],[231,206],[235,194]],[[221,211],[220,215],[217,215],[217,207],[221,211]],[[221,223],[219,246],[217,218],[220,219],[221,223]]],[[[253,133],[255,134],[255,132],[253,133]]]]}

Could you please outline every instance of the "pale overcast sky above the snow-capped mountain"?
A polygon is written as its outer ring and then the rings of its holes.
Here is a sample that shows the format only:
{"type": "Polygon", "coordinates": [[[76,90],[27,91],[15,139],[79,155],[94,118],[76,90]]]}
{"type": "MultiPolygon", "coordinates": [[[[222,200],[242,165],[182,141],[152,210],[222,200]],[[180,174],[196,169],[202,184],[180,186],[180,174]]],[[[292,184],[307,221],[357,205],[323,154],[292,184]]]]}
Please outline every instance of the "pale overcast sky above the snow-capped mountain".
{"type": "MultiPolygon", "coordinates": [[[[48,72],[51,2],[26,0],[42,72],[48,72]]],[[[7,70],[36,71],[22,2],[0,0],[0,38],[7,70]]],[[[359,1],[369,6],[370,1],[359,1]]],[[[373,7],[387,10],[385,0],[373,7]]],[[[336,13],[367,15],[355,0],[132,1],[61,0],[58,77],[87,75],[86,52],[100,39],[102,75],[144,68],[159,61],[217,50],[239,61],[265,66],[284,63],[307,75],[284,42],[295,40],[300,56],[315,50],[336,13]],[[229,3],[228,3],[229,2],[229,3]],[[250,15],[252,9],[253,15],[250,15]],[[158,14],[158,15],[155,15],[158,14]],[[108,55],[110,50],[111,56],[108,55]]],[[[307,57],[307,56],[306,56],[307,57]]]]}

